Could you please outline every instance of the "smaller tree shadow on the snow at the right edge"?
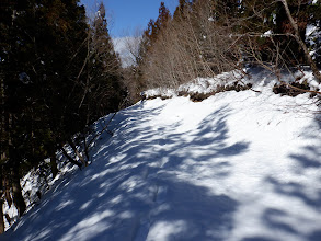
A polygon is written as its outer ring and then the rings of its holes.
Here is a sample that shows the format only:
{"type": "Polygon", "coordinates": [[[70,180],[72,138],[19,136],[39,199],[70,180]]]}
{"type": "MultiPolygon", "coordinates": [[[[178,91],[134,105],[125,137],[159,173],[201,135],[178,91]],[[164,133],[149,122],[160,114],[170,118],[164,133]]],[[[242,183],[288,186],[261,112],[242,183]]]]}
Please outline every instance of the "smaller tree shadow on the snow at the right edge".
{"type": "MultiPolygon", "coordinates": [[[[320,122],[318,124],[320,129],[320,122]]],[[[319,131],[316,130],[317,134],[319,131]]],[[[299,237],[300,240],[316,241],[321,240],[320,223],[316,226],[318,220],[320,222],[318,214],[321,210],[321,175],[318,174],[321,167],[321,140],[316,133],[307,133],[302,134],[303,138],[313,139],[313,144],[289,154],[294,162],[291,175],[297,175],[298,180],[282,182],[273,176],[266,179],[266,183],[273,186],[277,195],[288,197],[300,205],[294,206],[290,213],[278,208],[267,208],[262,219],[272,229],[299,237]],[[308,179],[309,182],[301,181],[301,177],[308,179]],[[305,229],[305,226],[312,228],[305,229]]]]}

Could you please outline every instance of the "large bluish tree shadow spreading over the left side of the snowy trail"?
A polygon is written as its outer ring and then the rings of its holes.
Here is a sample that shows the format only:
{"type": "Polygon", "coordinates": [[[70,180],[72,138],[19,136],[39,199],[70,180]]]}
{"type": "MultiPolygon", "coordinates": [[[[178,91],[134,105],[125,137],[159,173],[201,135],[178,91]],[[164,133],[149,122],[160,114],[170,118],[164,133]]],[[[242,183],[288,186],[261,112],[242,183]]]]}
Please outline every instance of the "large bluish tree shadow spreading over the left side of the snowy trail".
{"type": "Polygon", "coordinates": [[[140,107],[113,119],[117,138],[98,142],[91,167],[45,195],[11,240],[225,240],[238,202],[174,171],[197,175],[210,161],[213,173],[203,176],[229,175],[229,157],[245,152],[249,142],[227,141],[228,106],[183,134],[175,131],[180,122],[141,123],[163,105],[140,107]]]}

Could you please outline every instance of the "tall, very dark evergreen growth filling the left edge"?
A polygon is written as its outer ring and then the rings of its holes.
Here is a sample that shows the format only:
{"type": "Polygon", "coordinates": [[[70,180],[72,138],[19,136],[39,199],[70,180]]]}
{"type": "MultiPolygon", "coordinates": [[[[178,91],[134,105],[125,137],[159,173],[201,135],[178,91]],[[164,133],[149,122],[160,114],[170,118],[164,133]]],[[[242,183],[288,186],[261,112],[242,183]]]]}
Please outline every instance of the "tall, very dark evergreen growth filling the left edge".
{"type": "Polygon", "coordinates": [[[0,18],[2,195],[12,187],[22,215],[20,179],[82,127],[72,100],[85,50],[85,12],[77,0],[10,1],[0,18]]]}

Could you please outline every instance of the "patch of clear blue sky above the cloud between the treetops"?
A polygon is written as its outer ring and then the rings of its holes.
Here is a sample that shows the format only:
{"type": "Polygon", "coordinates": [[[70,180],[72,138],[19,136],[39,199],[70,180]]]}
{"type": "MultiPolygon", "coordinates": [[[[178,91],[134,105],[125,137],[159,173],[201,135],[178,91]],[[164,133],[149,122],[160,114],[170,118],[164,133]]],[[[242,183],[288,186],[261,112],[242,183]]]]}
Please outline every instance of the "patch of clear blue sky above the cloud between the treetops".
{"type": "MultiPolygon", "coordinates": [[[[135,35],[138,28],[144,30],[150,19],[157,19],[161,2],[170,9],[175,10],[179,0],[103,0],[107,10],[110,33],[112,37],[135,35]]],[[[87,5],[88,12],[93,11],[98,0],[81,0],[87,5]]]]}

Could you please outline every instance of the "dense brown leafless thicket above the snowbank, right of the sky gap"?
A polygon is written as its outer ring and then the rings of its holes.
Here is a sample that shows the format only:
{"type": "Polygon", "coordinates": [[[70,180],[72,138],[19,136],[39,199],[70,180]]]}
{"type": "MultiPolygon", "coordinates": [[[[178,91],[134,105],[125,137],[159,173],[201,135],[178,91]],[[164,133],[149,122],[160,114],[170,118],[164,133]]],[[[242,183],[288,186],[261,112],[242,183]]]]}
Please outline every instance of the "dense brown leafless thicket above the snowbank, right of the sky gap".
{"type": "Polygon", "coordinates": [[[149,88],[177,87],[197,77],[214,77],[238,67],[240,51],[232,28],[213,21],[213,1],[176,13],[161,31],[144,62],[149,88]]]}

